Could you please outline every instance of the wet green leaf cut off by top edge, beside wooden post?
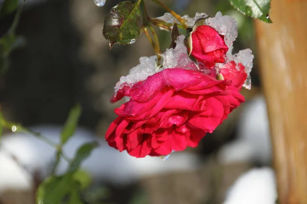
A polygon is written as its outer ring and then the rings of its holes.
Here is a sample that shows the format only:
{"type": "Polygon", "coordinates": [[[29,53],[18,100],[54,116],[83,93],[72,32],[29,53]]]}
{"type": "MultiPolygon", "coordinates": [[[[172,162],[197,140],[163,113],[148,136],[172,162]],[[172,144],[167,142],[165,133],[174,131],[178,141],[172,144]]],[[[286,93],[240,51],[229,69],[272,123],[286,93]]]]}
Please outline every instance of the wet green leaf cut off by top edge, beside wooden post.
{"type": "Polygon", "coordinates": [[[230,0],[231,5],[241,13],[271,23],[269,17],[271,0],[230,0]]]}

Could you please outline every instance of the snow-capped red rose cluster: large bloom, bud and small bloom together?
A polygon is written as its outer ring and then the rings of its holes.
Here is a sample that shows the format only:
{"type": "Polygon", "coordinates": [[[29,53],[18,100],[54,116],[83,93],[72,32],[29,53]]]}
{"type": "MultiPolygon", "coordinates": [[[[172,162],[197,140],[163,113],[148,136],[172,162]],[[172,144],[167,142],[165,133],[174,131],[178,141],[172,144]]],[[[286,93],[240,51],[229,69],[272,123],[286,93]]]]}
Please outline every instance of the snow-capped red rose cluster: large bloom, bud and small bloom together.
{"type": "Polygon", "coordinates": [[[233,18],[219,12],[204,23],[191,33],[192,49],[179,36],[176,47],[161,55],[160,66],[156,56],[142,57],[120,79],[111,101],[129,100],[115,109],[118,118],[106,132],[111,147],[137,158],[196,147],[244,102],[239,90],[250,87],[253,55],[249,49],[231,54],[233,18]]]}

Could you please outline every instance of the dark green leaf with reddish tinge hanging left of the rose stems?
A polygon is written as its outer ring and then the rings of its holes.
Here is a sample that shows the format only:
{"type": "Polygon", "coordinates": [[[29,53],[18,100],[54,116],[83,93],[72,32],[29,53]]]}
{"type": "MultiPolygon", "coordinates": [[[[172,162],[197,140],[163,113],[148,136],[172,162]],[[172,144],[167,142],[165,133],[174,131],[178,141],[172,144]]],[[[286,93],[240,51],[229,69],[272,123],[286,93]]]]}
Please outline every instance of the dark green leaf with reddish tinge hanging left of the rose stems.
{"type": "Polygon", "coordinates": [[[103,36],[109,41],[110,48],[118,44],[129,44],[140,35],[140,1],[120,2],[109,11],[104,19],[103,36]]]}

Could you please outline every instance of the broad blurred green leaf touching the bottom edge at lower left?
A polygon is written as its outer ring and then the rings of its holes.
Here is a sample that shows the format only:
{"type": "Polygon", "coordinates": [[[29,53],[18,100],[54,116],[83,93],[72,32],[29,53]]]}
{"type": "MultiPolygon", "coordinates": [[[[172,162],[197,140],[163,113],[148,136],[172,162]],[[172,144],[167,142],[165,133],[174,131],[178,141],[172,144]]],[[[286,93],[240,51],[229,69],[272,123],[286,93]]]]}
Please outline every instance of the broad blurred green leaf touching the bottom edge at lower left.
{"type": "Polygon", "coordinates": [[[71,173],[63,176],[52,176],[43,181],[37,190],[37,203],[55,204],[60,203],[64,196],[71,192],[74,185],[71,173]]]}

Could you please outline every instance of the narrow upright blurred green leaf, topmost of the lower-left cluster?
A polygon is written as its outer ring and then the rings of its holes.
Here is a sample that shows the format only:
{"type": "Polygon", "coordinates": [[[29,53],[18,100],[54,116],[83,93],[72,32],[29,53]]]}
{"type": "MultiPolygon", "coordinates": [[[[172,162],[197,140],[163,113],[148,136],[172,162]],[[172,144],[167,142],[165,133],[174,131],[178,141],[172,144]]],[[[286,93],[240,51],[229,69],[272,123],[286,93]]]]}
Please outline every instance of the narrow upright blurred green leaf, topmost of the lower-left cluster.
{"type": "Polygon", "coordinates": [[[73,107],[65,122],[64,128],[61,132],[61,143],[64,144],[75,133],[79,117],[81,115],[81,107],[79,105],[73,107]]]}

